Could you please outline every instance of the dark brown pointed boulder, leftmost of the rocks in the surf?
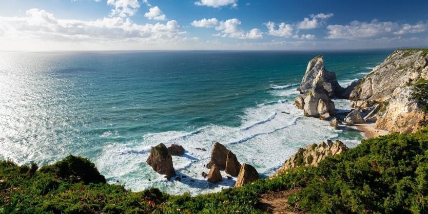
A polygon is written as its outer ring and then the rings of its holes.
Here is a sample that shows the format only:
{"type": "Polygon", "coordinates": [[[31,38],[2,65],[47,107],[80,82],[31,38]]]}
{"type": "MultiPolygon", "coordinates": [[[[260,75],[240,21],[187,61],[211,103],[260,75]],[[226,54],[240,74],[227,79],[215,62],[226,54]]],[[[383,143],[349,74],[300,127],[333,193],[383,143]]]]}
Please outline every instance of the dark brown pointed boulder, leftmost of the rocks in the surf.
{"type": "Polygon", "coordinates": [[[172,156],[163,143],[151,148],[146,162],[159,174],[166,175],[165,178],[168,181],[171,177],[176,176],[176,171],[172,165],[172,156]]]}

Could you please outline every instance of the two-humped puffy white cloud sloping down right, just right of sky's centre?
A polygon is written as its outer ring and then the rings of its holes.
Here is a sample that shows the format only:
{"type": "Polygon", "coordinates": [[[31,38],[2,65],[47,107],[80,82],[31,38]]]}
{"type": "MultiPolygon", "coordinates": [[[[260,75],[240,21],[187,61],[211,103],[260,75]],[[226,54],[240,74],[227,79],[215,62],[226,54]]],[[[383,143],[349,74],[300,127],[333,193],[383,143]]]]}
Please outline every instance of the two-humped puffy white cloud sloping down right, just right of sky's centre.
{"type": "MultiPolygon", "coordinates": [[[[220,22],[219,25],[216,27],[217,31],[221,31],[223,34],[221,34],[222,37],[231,37],[231,38],[240,38],[240,39],[257,39],[257,38],[263,38],[263,33],[257,29],[254,28],[249,32],[245,32],[239,28],[241,25],[241,21],[237,18],[228,19],[225,22],[220,22]]],[[[220,34],[218,34],[220,35],[220,34]]]]}

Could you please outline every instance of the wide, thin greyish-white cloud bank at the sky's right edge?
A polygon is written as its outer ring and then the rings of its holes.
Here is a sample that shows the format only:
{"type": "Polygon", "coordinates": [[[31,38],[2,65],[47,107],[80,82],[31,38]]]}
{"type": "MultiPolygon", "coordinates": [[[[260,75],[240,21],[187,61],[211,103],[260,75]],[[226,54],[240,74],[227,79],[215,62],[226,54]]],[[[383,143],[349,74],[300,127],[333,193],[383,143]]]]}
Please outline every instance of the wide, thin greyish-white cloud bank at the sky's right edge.
{"type": "Polygon", "coordinates": [[[406,33],[425,32],[428,24],[419,23],[417,25],[398,24],[394,22],[358,22],[353,21],[349,25],[329,25],[328,36],[326,38],[343,39],[364,39],[390,37],[391,35],[402,35],[406,33]]]}

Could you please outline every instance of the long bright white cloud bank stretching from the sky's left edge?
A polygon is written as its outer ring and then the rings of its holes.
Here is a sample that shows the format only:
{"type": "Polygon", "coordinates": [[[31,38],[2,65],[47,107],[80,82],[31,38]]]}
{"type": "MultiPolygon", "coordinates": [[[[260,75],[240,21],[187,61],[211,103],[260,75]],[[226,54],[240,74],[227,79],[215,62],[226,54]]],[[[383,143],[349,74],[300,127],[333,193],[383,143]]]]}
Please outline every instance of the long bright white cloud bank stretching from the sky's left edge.
{"type": "Polygon", "coordinates": [[[135,39],[170,41],[185,33],[176,20],[164,24],[138,25],[129,18],[104,17],[93,21],[57,19],[40,9],[30,9],[26,17],[0,17],[0,26],[9,38],[32,38],[49,41],[111,41],[135,39]]]}

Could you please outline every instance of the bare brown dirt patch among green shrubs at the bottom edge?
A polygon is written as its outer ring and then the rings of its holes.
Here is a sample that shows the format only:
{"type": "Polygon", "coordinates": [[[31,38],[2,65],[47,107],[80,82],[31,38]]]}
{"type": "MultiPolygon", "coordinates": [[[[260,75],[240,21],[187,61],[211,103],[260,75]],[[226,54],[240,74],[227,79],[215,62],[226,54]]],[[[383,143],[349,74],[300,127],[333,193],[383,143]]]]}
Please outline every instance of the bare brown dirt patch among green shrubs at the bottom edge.
{"type": "Polygon", "coordinates": [[[295,194],[300,188],[288,189],[283,191],[267,191],[259,196],[261,205],[258,207],[263,211],[270,213],[302,213],[295,212],[287,203],[288,196],[295,194]]]}

